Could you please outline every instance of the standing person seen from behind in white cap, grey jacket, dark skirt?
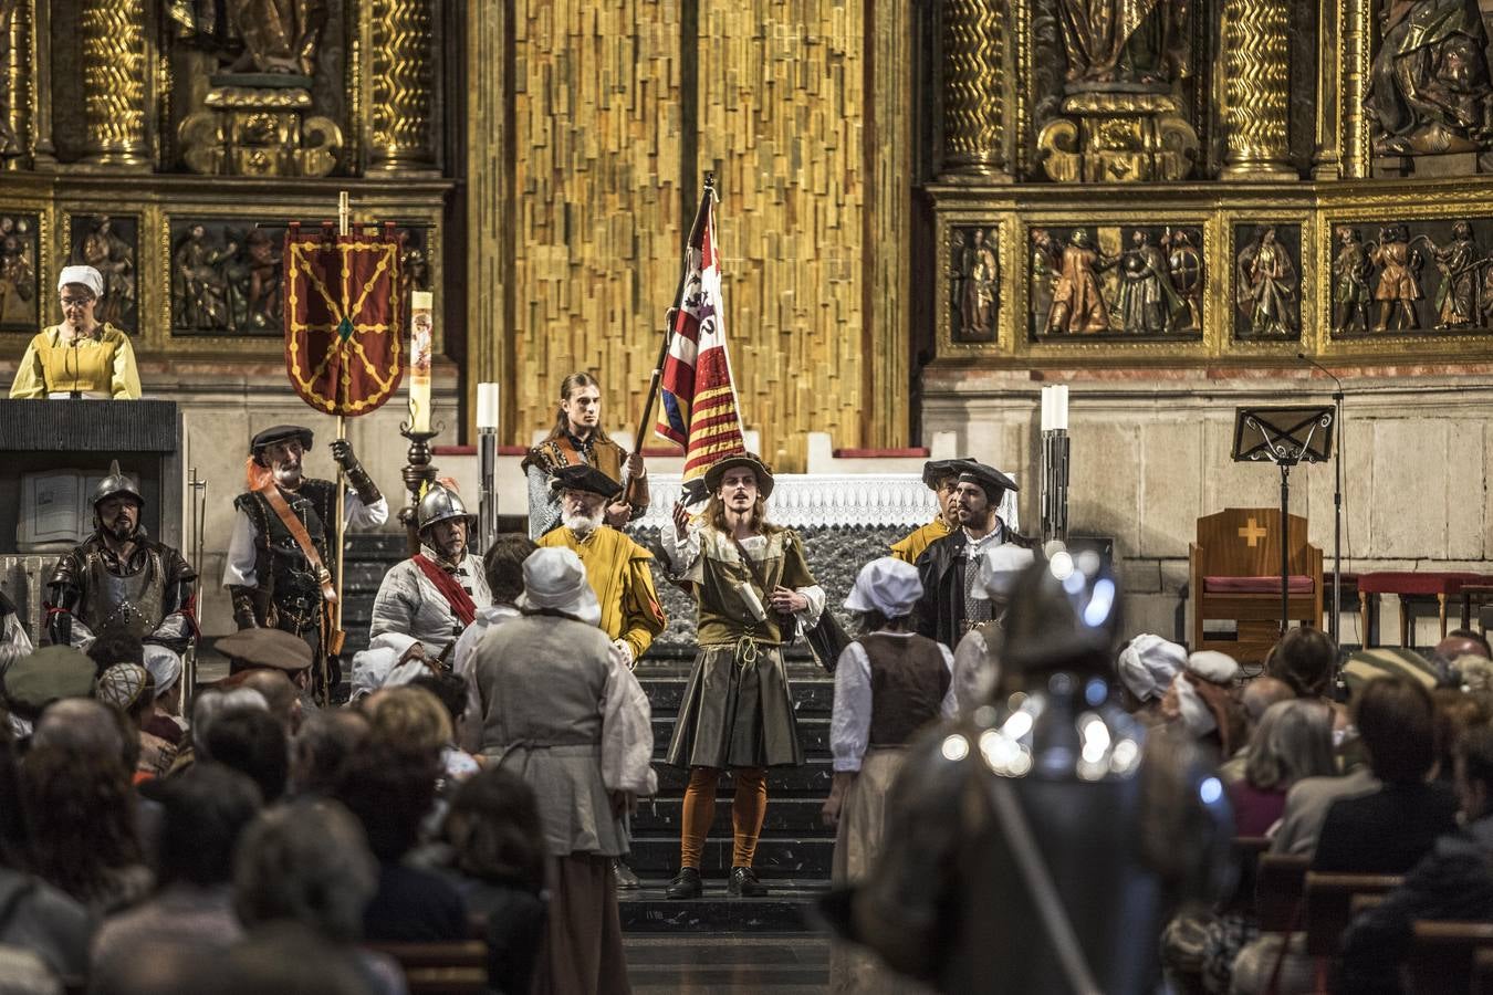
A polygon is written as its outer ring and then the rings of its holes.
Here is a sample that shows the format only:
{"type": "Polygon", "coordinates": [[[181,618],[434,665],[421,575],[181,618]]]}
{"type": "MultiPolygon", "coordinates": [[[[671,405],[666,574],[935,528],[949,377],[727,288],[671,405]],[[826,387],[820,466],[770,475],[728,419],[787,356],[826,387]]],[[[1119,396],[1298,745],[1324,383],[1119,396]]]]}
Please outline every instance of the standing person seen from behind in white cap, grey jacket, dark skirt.
{"type": "Polygon", "coordinates": [[[536,549],[523,570],[523,618],[473,652],[469,743],[539,803],[551,898],[533,991],[626,992],[612,861],[629,850],[623,816],[657,788],[648,698],[597,628],[579,556],[536,549]]]}

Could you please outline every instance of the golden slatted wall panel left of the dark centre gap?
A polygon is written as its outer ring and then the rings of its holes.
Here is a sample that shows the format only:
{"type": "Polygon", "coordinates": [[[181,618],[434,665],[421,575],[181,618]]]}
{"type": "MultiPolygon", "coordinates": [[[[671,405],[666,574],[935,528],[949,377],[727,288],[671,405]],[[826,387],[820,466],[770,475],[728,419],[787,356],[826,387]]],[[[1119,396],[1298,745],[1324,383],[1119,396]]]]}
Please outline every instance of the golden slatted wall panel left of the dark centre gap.
{"type": "Polygon", "coordinates": [[[527,443],[554,422],[560,380],[573,370],[602,377],[608,425],[638,421],[679,280],[682,201],[696,194],[681,189],[676,0],[517,0],[511,30],[514,370],[505,382],[517,397],[505,434],[527,443]]]}

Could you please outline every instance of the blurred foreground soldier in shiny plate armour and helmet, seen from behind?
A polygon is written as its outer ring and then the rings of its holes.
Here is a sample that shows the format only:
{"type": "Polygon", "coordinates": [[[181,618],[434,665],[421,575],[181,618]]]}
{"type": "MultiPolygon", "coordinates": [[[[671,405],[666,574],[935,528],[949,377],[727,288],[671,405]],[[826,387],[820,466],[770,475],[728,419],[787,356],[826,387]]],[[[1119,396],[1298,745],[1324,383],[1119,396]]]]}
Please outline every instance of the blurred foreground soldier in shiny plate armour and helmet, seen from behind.
{"type": "Polygon", "coordinates": [[[1021,573],[1000,683],[908,747],[881,858],[824,901],[838,932],[941,992],[1157,991],[1156,937],[1217,895],[1233,822],[1215,758],[1120,707],[1118,607],[1091,553],[1021,573]]]}

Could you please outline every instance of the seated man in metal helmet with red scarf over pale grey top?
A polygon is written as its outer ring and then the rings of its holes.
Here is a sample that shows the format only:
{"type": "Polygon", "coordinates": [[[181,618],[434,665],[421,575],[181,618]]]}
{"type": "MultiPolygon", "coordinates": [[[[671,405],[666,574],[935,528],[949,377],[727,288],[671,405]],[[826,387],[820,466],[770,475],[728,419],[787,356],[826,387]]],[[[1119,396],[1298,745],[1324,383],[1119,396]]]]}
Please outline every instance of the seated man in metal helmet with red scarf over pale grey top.
{"type": "Polygon", "coordinates": [[[461,630],[493,604],[482,564],[467,550],[476,516],[455,491],[436,483],[420,498],[415,522],[420,553],[384,574],[369,638],[409,635],[431,659],[445,662],[461,630]]]}

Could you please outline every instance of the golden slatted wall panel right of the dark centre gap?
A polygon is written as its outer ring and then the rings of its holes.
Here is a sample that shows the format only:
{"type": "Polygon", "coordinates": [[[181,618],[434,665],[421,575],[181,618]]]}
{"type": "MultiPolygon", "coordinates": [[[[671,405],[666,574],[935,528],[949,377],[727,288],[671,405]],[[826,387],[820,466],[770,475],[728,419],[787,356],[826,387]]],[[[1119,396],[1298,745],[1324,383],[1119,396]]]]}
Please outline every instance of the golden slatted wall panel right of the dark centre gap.
{"type": "MultiPolygon", "coordinates": [[[[700,9],[700,163],[723,197],[726,330],[748,427],[785,468],[803,434],[864,439],[864,6],[700,9]]],[[[900,339],[900,337],[899,337],[900,339]]]]}

